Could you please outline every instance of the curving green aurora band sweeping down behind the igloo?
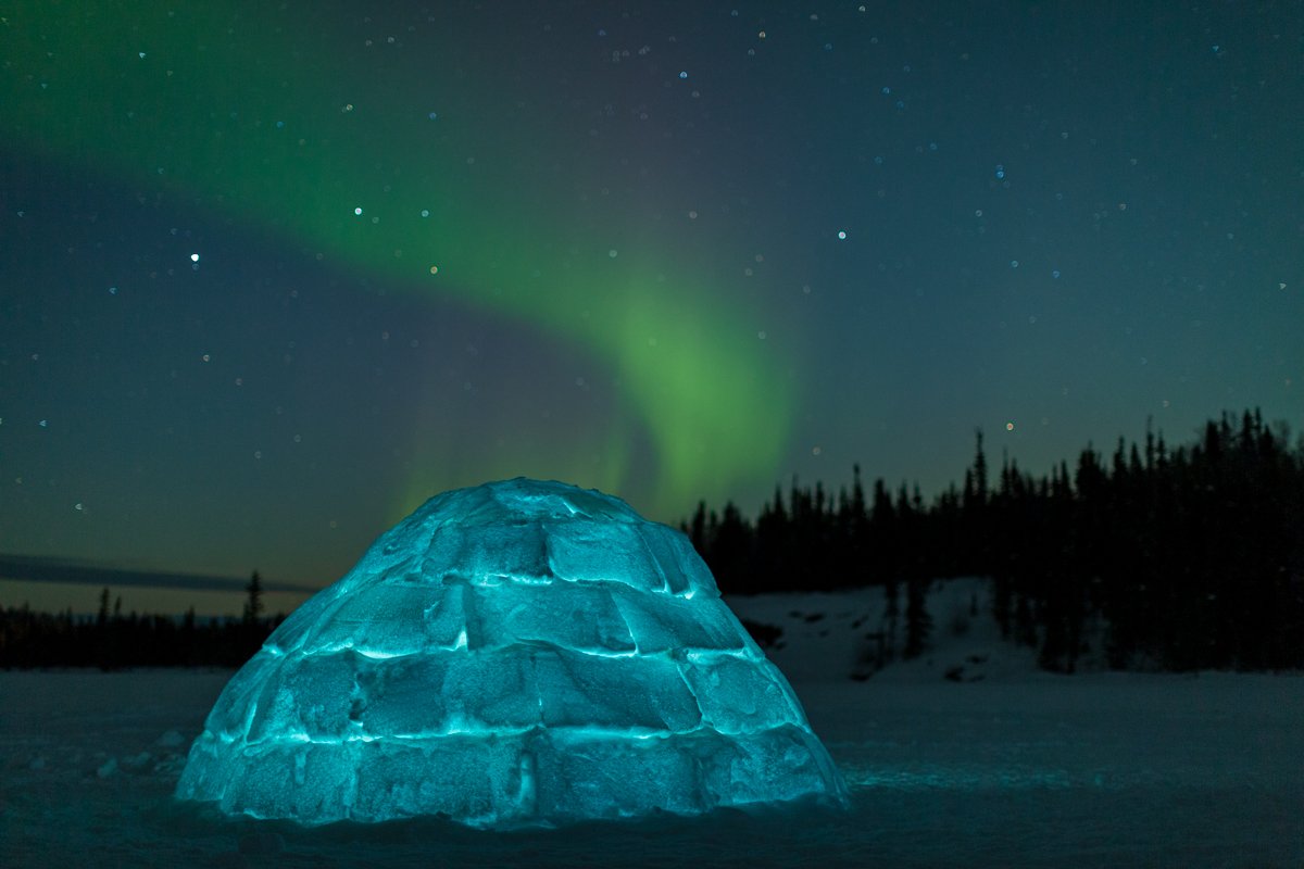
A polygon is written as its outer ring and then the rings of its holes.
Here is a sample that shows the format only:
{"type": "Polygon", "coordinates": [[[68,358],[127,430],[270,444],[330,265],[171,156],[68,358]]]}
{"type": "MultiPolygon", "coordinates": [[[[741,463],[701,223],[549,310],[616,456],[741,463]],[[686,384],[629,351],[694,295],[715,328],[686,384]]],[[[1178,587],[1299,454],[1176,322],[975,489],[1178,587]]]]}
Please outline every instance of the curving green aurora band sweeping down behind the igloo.
{"type": "MultiPolygon", "coordinates": [[[[572,455],[548,466],[621,492],[642,435],[656,453],[644,507],[662,516],[773,479],[793,360],[756,340],[756,311],[739,315],[746,300],[711,280],[709,253],[656,223],[687,193],[643,194],[647,220],[578,194],[614,158],[459,34],[432,25],[404,36],[420,50],[378,60],[359,34],[313,33],[261,4],[18,3],[0,25],[10,146],[592,354],[622,406],[588,443],[553,444],[572,455]],[[340,81],[356,86],[326,83],[340,81]],[[596,472],[582,460],[595,449],[596,472]]],[[[456,478],[429,426],[417,414],[395,515],[456,478]]]]}

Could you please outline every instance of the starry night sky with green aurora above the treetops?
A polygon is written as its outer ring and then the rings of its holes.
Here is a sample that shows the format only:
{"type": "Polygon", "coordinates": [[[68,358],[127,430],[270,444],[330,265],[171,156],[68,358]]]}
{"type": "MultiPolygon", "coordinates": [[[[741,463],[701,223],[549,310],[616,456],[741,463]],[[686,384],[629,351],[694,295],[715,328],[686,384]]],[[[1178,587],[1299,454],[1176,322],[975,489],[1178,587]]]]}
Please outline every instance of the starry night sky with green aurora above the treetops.
{"type": "Polygon", "coordinates": [[[1300,3],[0,16],[4,606],[287,608],[520,474],[674,522],[1304,422],[1300,3]]]}

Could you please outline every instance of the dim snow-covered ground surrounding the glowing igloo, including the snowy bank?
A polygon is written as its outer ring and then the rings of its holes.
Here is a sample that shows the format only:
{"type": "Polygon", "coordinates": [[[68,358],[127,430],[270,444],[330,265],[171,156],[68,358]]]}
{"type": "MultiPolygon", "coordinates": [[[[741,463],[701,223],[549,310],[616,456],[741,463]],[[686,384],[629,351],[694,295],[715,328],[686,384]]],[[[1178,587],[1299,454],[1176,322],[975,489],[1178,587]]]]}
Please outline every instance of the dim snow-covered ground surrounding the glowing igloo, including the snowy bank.
{"type": "Polygon", "coordinates": [[[171,793],[230,672],[0,672],[0,866],[1304,866],[1304,677],[1042,674],[966,615],[974,595],[986,612],[979,582],[935,589],[934,648],[872,675],[880,593],[729,601],[782,629],[769,654],[846,813],[511,834],[224,818],[171,793]]]}

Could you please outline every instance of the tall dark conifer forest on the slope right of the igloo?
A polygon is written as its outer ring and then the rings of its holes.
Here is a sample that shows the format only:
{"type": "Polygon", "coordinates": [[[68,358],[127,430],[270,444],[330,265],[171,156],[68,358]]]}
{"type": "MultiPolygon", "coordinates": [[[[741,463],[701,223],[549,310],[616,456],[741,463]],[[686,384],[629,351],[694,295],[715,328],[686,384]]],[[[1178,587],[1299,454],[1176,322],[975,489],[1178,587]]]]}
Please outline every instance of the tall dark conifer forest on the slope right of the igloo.
{"type": "Polygon", "coordinates": [[[866,491],[855,468],[836,496],[794,481],[755,521],[699,503],[682,528],[725,593],[884,586],[889,655],[902,615],[902,651],[926,641],[928,581],[988,576],[1001,633],[1047,670],[1088,651],[1116,668],[1300,668],[1304,440],[1288,439],[1257,410],[1224,413],[1175,449],[1148,431],[1037,477],[1013,460],[992,474],[978,433],[964,483],[931,503],[883,479],[866,491]]]}

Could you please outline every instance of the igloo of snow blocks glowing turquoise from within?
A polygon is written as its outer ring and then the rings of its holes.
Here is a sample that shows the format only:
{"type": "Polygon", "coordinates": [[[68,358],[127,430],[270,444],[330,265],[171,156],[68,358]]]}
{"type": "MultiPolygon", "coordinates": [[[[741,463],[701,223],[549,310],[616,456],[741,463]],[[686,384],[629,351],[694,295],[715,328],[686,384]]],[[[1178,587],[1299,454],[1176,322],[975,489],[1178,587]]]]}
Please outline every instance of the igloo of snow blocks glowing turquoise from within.
{"type": "Polygon", "coordinates": [[[306,825],[515,827],[846,790],[682,533],[518,478],[428,500],[286,619],[176,795],[306,825]]]}

